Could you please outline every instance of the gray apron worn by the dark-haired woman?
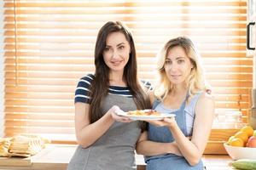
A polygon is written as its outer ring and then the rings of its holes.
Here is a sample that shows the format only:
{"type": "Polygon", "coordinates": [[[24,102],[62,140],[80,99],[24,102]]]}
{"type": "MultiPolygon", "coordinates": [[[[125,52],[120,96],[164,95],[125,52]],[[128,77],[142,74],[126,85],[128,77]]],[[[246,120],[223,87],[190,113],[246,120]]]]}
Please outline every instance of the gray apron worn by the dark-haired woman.
{"type": "MultiPolygon", "coordinates": [[[[108,94],[102,102],[106,113],[113,105],[123,111],[136,110],[132,98],[108,94]]],[[[114,122],[108,131],[90,147],[80,145],[68,164],[68,170],[135,170],[135,146],[141,134],[138,122],[114,122]]]]}

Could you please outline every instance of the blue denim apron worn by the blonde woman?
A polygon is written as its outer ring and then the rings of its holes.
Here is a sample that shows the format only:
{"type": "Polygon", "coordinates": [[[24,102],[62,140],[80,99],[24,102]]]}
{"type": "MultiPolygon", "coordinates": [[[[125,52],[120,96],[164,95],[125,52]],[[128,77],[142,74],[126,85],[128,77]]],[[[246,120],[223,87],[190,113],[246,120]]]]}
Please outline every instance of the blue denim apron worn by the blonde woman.
{"type": "MultiPolygon", "coordinates": [[[[158,110],[157,105],[160,104],[160,101],[155,100],[153,109],[158,110]]],[[[185,136],[188,136],[187,127],[186,127],[186,114],[184,112],[186,104],[186,99],[183,101],[181,107],[172,112],[175,114],[175,120],[177,126],[182,130],[185,136]]],[[[160,111],[161,112],[161,111],[160,111]]],[[[161,143],[170,143],[174,141],[172,133],[168,127],[155,127],[152,124],[148,124],[148,140],[161,143]]],[[[145,157],[147,163],[147,170],[202,170],[203,163],[200,161],[195,166],[189,166],[188,161],[183,156],[177,156],[174,154],[166,154],[160,156],[148,156],[145,157]]]]}

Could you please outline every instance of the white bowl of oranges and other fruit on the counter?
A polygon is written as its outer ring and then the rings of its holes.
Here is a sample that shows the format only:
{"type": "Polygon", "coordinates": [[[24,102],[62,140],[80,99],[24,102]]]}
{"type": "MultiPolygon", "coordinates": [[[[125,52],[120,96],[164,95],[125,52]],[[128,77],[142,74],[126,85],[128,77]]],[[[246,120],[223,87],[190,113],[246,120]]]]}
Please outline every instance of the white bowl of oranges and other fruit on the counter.
{"type": "Polygon", "coordinates": [[[233,160],[256,159],[256,130],[250,126],[241,127],[224,143],[224,148],[233,160]]]}

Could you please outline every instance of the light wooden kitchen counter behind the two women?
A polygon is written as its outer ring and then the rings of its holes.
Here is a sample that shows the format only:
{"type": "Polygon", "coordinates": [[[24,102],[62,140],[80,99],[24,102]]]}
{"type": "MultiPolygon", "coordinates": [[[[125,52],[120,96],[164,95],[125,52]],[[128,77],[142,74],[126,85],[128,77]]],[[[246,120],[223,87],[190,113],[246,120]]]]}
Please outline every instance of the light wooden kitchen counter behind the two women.
{"type": "MultiPolygon", "coordinates": [[[[49,144],[36,156],[29,158],[3,158],[0,159],[1,170],[66,170],[70,158],[76,149],[75,144],[49,144]]],[[[229,170],[230,156],[226,155],[204,155],[204,164],[207,170],[229,170]]],[[[136,156],[137,169],[144,170],[143,156],[136,156]]]]}

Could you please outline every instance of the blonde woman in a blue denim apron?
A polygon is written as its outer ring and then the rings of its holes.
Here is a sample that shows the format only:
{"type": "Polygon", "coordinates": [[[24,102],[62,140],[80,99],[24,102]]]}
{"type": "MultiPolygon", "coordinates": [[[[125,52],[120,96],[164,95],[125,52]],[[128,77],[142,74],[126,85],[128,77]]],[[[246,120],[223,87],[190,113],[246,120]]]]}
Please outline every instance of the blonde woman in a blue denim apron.
{"type": "Polygon", "coordinates": [[[175,117],[148,121],[137,142],[147,170],[203,169],[214,101],[207,88],[201,56],[188,37],[166,42],[158,54],[160,82],[151,94],[153,109],[175,117]]]}

